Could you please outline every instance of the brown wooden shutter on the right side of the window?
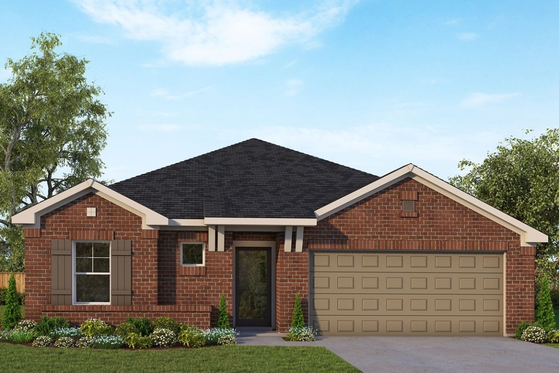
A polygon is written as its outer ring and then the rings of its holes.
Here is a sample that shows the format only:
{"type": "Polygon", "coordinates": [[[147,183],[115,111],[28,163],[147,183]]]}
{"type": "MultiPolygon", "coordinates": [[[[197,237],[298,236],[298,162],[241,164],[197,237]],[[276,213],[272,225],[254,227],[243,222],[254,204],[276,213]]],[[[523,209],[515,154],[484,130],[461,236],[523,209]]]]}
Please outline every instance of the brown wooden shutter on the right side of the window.
{"type": "Polygon", "coordinates": [[[132,304],[132,240],[111,241],[111,304],[132,304]]]}

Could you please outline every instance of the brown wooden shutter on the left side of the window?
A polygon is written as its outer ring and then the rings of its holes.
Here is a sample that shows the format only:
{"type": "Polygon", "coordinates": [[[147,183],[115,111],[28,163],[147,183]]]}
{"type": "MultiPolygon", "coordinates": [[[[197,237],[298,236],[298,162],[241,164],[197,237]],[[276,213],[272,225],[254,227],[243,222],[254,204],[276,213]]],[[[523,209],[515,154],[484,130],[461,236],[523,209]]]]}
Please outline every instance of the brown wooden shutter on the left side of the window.
{"type": "Polygon", "coordinates": [[[51,240],[51,303],[72,304],[72,240],[51,240]]]}

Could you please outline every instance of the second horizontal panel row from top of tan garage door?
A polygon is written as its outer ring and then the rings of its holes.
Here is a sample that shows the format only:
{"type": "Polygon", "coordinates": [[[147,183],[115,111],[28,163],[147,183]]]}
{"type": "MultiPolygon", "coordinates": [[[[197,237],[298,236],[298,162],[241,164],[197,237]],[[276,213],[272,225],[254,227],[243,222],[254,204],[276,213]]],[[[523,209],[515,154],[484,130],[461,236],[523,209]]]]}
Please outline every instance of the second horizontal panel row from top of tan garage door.
{"type": "Polygon", "coordinates": [[[310,273],[317,294],[502,294],[502,277],[501,273],[310,273]]]}

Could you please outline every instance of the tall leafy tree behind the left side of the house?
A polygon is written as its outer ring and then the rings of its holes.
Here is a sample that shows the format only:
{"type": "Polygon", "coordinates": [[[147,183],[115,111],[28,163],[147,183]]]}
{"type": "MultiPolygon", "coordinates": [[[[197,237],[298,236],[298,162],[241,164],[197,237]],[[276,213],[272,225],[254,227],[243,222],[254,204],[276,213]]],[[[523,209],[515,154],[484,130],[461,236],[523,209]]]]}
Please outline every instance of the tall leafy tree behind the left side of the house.
{"type": "Polygon", "coordinates": [[[58,35],[31,37],[31,54],[7,59],[0,84],[0,270],[22,271],[12,215],[88,177],[100,177],[110,112],[84,76],[88,61],[57,53],[58,35]]]}

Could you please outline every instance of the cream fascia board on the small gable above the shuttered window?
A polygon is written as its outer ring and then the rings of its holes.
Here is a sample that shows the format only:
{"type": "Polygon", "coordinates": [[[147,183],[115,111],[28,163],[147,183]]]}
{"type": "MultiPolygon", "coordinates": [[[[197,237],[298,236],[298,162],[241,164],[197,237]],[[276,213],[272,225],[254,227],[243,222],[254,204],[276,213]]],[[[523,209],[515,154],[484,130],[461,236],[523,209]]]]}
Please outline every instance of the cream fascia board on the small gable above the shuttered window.
{"type": "Polygon", "coordinates": [[[41,216],[57,209],[60,206],[64,206],[68,202],[71,202],[87,193],[95,193],[108,201],[113,202],[116,205],[123,207],[124,209],[131,211],[132,213],[142,217],[144,225],[167,225],[169,224],[169,219],[165,216],[156,213],[155,211],[148,209],[144,205],[138,202],[132,201],[128,197],[121,195],[118,192],[113,191],[111,188],[102,185],[101,183],[94,181],[93,179],[88,179],[78,185],[69,188],[57,195],[50,197],[48,200],[42,201],[35,206],[29,207],[21,211],[21,213],[12,216],[12,223],[21,224],[25,226],[40,226],[41,216]]]}

